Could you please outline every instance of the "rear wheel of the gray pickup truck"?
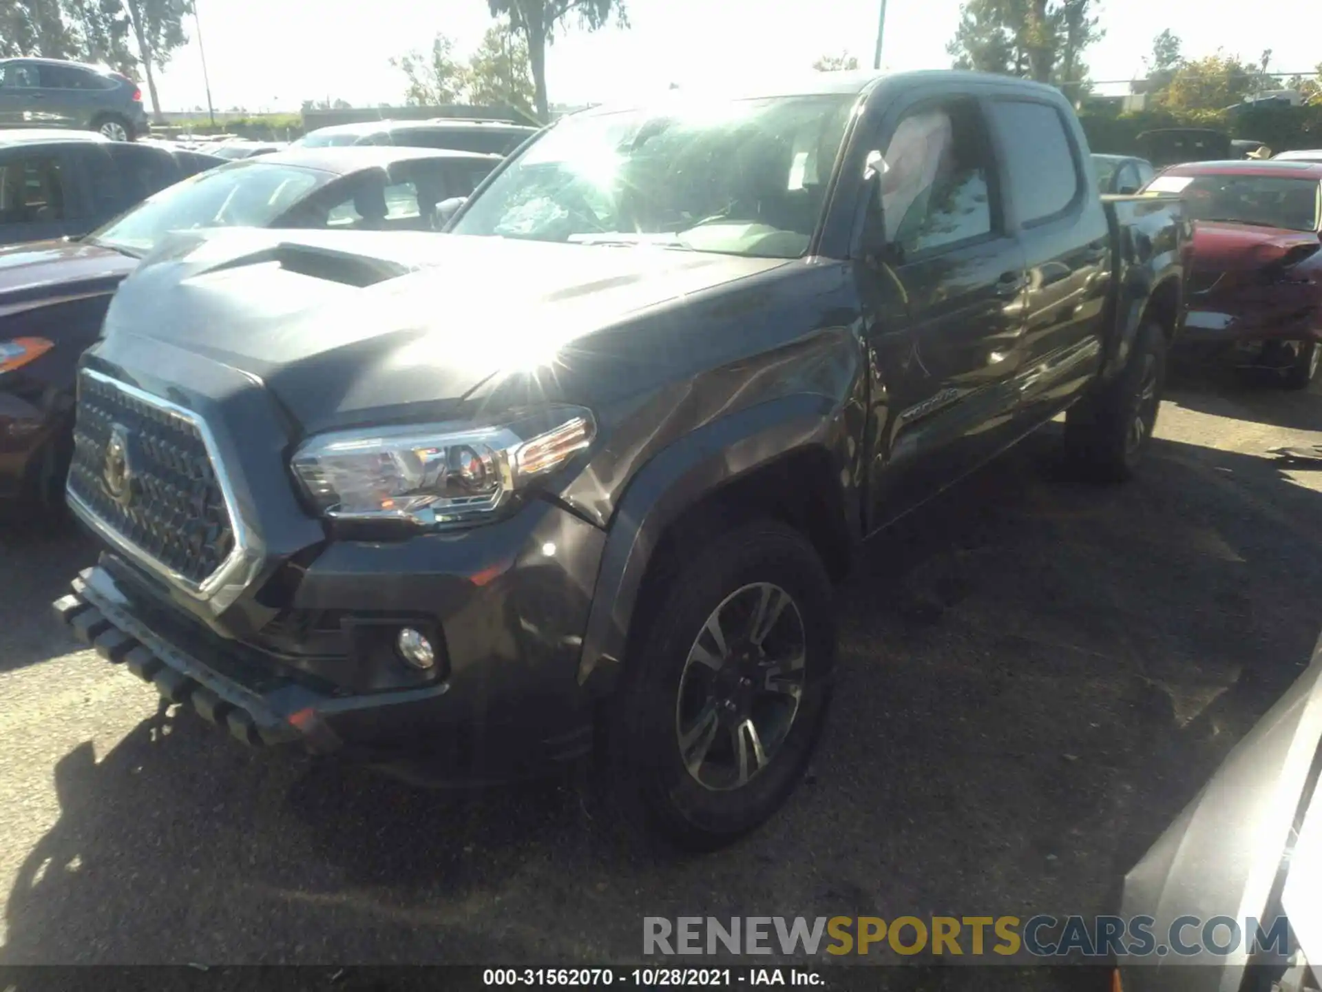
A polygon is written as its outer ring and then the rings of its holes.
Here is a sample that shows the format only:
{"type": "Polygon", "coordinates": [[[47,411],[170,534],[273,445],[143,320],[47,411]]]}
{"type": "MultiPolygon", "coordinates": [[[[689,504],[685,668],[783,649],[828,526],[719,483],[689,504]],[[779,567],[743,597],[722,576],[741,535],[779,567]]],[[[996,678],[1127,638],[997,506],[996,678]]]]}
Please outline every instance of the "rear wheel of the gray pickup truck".
{"type": "Polygon", "coordinates": [[[1124,370],[1101,392],[1071,407],[1066,415],[1066,455],[1083,476],[1105,483],[1133,476],[1157,426],[1166,353],[1161,325],[1146,321],[1124,370]]]}

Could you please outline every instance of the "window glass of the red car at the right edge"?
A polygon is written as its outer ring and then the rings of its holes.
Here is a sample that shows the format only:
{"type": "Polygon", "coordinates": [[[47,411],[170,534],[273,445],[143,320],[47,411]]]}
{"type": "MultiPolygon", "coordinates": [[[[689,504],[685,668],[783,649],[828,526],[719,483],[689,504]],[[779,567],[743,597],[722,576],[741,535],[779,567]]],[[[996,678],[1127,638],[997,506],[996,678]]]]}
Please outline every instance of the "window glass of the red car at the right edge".
{"type": "Polygon", "coordinates": [[[1288,230],[1318,229],[1318,181],[1276,176],[1162,176],[1175,180],[1195,221],[1256,224],[1288,230]]]}

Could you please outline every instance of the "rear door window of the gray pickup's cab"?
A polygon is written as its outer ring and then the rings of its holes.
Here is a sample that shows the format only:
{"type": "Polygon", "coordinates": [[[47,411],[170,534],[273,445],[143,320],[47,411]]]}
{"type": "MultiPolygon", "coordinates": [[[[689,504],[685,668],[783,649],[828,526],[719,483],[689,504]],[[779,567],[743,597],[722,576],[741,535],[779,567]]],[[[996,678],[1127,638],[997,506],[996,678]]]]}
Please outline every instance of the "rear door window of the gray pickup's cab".
{"type": "Polygon", "coordinates": [[[993,101],[992,120],[1005,147],[1019,222],[1043,221],[1068,208],[1080,179],[1060,112],[1047,103],[993,101]]]}

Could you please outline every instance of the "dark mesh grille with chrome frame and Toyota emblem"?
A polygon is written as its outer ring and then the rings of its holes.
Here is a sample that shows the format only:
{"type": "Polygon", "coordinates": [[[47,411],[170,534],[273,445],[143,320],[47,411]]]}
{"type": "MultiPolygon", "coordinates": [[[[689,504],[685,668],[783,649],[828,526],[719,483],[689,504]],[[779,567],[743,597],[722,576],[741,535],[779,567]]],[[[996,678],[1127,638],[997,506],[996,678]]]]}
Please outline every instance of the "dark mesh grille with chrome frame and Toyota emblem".
{"type": "Polygon", "coordinates": [[[83,372],[69,493],[140,557],[198,589],[234,552],[234,521],[200,422],[83,372]]]}

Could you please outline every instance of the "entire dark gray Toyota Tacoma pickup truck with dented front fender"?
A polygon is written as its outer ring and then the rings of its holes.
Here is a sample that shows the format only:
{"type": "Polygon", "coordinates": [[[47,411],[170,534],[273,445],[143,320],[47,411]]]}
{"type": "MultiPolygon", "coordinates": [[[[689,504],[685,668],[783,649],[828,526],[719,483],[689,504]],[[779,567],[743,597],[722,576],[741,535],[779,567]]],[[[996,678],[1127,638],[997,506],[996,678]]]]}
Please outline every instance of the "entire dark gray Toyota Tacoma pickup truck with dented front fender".
{"type": "Polygon", "coordinates": [[[449,234],[182,233],[81,369],[57,603],[251,745],[432,782],[596,745],[713,847],[792,791],[867,536],[1068,410],[1128,476],[1182,312],[1169,198],[962,73],[561,120],[449,234]]]}

